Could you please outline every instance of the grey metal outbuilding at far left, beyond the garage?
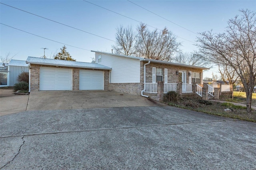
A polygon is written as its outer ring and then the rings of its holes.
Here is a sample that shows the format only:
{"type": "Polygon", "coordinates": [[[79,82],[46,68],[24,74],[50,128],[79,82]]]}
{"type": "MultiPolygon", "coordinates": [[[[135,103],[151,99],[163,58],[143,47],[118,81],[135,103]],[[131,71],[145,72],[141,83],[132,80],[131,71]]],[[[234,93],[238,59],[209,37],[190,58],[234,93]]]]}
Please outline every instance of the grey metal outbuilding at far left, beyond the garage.
{"type": "Polygon", "coordinates": [[[22,72],[28,72],[26,61],[11,59],[9,63],[0,63],[0,87],[14,86],[22,72]]]}

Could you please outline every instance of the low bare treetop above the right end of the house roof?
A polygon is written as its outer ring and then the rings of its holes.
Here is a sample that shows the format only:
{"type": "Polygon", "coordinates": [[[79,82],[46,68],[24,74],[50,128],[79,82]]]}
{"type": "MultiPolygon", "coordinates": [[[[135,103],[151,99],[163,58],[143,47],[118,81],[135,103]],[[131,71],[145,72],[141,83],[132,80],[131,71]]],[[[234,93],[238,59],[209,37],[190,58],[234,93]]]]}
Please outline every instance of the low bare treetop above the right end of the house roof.
{"type": "MultiPolygon", "coordinates": [[[[195,52],[196,53],[196,52],[195,52]]],[[[198,67],[210,67],[209,61],[206,61],[199,55],[195,53],[177,53],[174,57],[172,57],[172,62],[180,63],[180,64],[187,64],[187,65],[194,65],[198,67]]]]}

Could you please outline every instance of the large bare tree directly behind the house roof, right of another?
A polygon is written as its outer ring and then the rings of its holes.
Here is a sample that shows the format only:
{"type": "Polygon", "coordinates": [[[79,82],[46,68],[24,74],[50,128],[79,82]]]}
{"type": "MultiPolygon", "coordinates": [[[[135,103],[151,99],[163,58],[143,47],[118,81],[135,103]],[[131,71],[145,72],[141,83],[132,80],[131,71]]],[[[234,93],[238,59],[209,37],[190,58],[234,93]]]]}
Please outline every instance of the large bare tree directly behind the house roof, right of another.
{"type": "Polygon", "coordinates": [[[145,24],[140,24],[138,31],[138,56],[170,61],[171,56],[178,52],[180,43],[176,42],[176,37],[165,27],[161,32],[150,31],[145,24]]]}

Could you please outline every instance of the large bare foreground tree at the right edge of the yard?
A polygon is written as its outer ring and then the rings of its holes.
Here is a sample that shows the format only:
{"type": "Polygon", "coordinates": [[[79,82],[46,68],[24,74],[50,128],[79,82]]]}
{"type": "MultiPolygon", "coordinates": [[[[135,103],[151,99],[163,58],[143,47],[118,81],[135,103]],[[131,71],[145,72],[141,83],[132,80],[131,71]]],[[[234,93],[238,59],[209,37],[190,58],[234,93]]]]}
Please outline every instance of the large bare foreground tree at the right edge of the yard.
{"type": "Polygon", "coordinates": [[[246,92],[247,113],[251,114],[252,92],[256,85],[256,13],[240,12],[241,16],[228,20],[224,33],[200,33],[197,45],[204,59],[236,70],[246,92]]]}

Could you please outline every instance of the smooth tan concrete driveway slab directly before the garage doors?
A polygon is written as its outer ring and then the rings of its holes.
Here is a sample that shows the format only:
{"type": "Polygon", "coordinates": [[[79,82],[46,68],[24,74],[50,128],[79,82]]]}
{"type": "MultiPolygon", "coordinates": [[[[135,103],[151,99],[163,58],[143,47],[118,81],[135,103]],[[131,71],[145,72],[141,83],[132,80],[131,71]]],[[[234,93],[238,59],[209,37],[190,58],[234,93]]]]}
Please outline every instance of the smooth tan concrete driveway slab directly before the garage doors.
{"type": "Polygon", "coordinates": [[[114,91],[33,91],[30,93],[27,111],[157,105],[164,104],[114,91]]]}

